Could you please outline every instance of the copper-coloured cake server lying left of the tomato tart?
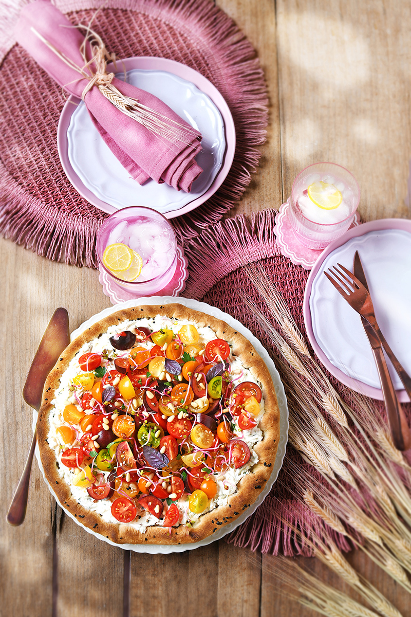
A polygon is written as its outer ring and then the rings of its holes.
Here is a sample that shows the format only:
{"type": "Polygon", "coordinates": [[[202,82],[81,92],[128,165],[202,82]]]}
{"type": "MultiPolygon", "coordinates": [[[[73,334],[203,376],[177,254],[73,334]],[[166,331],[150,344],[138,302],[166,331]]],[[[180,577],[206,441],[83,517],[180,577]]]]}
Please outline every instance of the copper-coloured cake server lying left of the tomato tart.
{"type": "MultiPolygon", "coordinates": [[[[68,327],[68,313],[66,309],[56,309],[46,332],[41,339],[35,358],[28,371],[26,383],[23,387],[23,399],[37,412],[41,407],[44,383],[53,366],[70,343],[70,329],[68,327]]],[[[26,516],[28,486],[30,484],[31,463],[36,447],[36,429],[30,445],[26,464],[18,482],[6,520],[10,525],[21,525],[26,516]]]]}

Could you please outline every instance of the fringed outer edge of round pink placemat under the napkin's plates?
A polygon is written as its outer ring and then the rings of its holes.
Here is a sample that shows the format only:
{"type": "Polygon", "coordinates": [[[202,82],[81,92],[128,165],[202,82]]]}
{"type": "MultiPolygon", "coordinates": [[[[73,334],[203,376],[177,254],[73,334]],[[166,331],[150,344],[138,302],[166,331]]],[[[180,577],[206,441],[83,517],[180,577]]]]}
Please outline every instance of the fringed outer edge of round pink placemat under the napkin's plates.
{"type": "MultiPolygon", "coordinates": [[[[18,3],[18,0],[17,0],[18,3]]],[[[97,9],[99,1],[73,0],[56,2],[63,12],[97,9]]],[[[266,141],[268,123],[267,87],[256,52],[233,20],[211,0],[108,0],[105,7],[130,9],[165,20],[211,58],[214,70],[222,75],[216,86],[229,104],[236,128],[234,162],[226,180],[205,204],[186,215],[174,218],[173,226],[181,244],[195,238],[201,229],[221,220],[240,199],[256,171],[261,152],[256,148],[266,141]],[[193,41],[193,34],[197,37],[193,41]]],[[[4,9],[7,28],[0,25],[0,62],[14,45],[12,35],[20,5],[4,9]]],[[[0,15],[2,11],[0,9],[0,15]]],[[[187,51],[188,53],[188,51],[187,51]]],[[[187,56],[189,60],[189,56],[187,56]]],[[[216,78],[216,81],[218,77],[216,78]]],[[[55,212],[54,207],[36,200],[3,168],[0,202],[0,231],[36,253],[53,260],[97,267],[95,244],[101,223],[87,219],[86,225],[76,215],[55,212]],[[38,204],[41,212],[35,209],[38,204]],[[6,221],[5,218],[8,218],[6,221]],[[73,222],[74,220],[74,222],[73,222]],[[45,238],[39,238],[49,233],[45,238]]]]}

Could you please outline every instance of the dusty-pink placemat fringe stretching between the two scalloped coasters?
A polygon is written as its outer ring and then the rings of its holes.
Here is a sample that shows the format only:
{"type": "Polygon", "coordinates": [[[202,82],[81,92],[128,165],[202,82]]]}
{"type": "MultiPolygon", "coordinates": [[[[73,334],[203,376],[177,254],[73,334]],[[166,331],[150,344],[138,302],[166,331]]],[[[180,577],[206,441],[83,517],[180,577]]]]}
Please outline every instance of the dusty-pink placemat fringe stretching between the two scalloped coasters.
{"type": "Polygon", "coordinates": [[[189,260],[189,278],[183,296],[195,300],[213,285],[246,263],[280,255],[274,239],[276,210],[238,215],[214,225],[188,241],[184,251],[189,260]]]}

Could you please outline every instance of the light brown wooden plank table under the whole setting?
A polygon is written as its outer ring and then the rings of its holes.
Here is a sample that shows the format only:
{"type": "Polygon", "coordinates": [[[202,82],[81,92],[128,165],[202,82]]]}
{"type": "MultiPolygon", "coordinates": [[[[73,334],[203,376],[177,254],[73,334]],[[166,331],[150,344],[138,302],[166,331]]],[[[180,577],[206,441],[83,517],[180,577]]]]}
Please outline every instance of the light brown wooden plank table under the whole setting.
{"type": "MultiPolygon", "coordinates": [[[[261,167],[232,214],[278,207],[299,170],[331,160],[349,168],[359,181],[359,212],[365,220],[410,218],[404,199],[411,148],[411,2],[218,4],[257,49],[271,98],[261,167]]],[[[15,617],[120,617],[129,553],[95,539],[62,515],[36,463],[25,523],[11,528],[4,521],[31,439],[31,411],[22,387],[49,318],[55,307],[65,306],[74,329],[110,303],[96,271],[50,262],[4,239],[0,255],[5,344],[0,612],[15,617]]],[[[409,596],[401,587],[361,553],[350,560],[409,615],[409,596]]],[[[281,584],[270,573],[273,561],[224,540],[176,555],[133,553],[129,615],[311,615],[282,598],[281,584]]],[[[316,561],[299,561],[324,581],[346,589],[316,561]]]]}

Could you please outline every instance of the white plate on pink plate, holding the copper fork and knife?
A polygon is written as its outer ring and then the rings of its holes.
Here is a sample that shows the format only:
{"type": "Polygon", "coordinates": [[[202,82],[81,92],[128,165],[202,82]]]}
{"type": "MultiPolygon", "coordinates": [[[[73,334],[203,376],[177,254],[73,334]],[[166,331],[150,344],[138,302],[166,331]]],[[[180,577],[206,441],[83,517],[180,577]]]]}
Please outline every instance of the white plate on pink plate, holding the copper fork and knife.
{"type": "MultiPolygon", "coordinates": [[[[316,354],[342,383],[383,399],[370,343],[360,316],[324,276],[337,263],[352,271],[358,251],[376,319],[399,362],[411,375],[411,221],[383,219],[349,230],[320,255],[307,280],[304,320],[316,354]]],[[[391,362],[400,400],[409,397],[391,362]]]]}

